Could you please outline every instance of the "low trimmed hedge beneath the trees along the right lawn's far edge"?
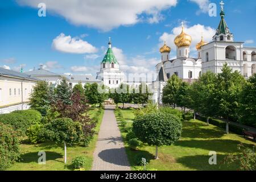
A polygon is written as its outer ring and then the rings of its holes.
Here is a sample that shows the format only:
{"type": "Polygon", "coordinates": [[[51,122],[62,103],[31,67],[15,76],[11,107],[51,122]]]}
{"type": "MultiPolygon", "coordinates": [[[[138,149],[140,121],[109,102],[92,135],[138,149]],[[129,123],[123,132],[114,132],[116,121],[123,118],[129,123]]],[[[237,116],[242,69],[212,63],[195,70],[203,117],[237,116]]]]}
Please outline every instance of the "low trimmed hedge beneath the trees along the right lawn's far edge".
{"type": "MultiPolygon", "coordinates": [[[[207,118],[206,117],[197,115],[196,118],[200,119],[200,121],[207,122],[207,118]]],[[[221,127],[222,129],[226,129],[226,123],[224,121],[220,121],[218,119],[209,118],[209,123],[214,125],[214,126],[221,127]]],[[[229,131],[232,131],[233,133],[236,133],[238,135],[243,135],[243,129],[241,129],[241,127],[238,127],[238,126],[229,125],[229,131]]]]}

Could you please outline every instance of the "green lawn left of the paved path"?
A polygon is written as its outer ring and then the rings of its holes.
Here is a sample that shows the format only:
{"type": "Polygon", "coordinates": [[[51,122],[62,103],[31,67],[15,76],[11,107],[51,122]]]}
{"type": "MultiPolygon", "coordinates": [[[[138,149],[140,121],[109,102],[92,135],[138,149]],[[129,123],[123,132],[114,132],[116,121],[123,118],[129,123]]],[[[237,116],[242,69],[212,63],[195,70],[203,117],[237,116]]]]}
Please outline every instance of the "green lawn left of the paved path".
{"type": "MultiPolygon", "coordinates": [[[[99,108],[90,108],[88,114],[90,118],[97,115],[99,108]]],[[[100,122],[97,123],[95,131],[98,133],[102,122],[104,111],[99,115],[100,122]]],[[[39,144],[21,144],[20,149],[22,151],[22,161],[13,164],[7,170],[11,171],[63,171],[73,170],[71,161],[76,156],[84,156],[86,163],[84,168],[90,170],[93,163],[93,151],[96,147],[98,135],[94,135],[92,142],[88,147],[82,146],[82,144],[76,144],[73,146],[67,146],[67,165],[64,165],[64,146],[55,144],[54,142],[45,142],[39,144]],[[46,152],[46,164],[38,164],[38,152],[46,152]]]]}

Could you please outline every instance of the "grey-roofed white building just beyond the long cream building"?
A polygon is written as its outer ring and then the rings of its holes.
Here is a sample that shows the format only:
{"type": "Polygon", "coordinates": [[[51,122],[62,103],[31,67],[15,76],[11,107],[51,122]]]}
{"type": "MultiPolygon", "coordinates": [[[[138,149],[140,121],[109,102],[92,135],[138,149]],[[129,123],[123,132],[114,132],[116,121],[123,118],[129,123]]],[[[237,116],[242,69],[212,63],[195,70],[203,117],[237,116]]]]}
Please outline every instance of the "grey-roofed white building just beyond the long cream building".
{"type": "Polygon", "coordinates": [[[38,78],[39,80],[48,81],[55,87],[60,83],[62,79],[61,75],[43,69],[43,65],[40,65],[39,69],[34,69],[32,71],[26,72],[26,74],[31,77],[38,78]]]}

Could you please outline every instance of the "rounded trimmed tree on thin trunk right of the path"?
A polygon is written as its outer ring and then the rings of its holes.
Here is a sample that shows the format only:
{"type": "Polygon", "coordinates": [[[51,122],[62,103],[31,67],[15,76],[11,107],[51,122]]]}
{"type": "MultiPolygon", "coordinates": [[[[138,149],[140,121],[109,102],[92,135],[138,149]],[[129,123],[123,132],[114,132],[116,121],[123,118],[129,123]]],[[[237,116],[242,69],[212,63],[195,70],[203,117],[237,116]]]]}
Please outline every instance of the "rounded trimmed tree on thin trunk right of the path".
{"type": "Polygon", "coordinates": [[[136,137],[150,146],[171,145],[181,136],[181,121],[176,115],[168,113],[150,113],[138,115],[134,119],[133,132],[136,137]]]}

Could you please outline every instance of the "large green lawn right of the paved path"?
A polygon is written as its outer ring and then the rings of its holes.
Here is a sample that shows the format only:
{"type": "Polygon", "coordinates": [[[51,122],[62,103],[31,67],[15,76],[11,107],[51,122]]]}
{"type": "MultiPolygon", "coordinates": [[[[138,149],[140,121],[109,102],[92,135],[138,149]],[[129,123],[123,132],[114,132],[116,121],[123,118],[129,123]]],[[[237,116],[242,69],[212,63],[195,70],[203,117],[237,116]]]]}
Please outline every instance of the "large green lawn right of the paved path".
{"type": "MultiPolygon", "coordinates": [[[[134,117],[131,110],[123,110],[123,117],[130,121],[134,117]]],[[[118,118],[117,118],[118,120],[118,118]]],[[[132,125],[131,122],[128,123],[132,125]]],[[[182,137],[172,146],[159,147],[159,159],[155,160],[155,147],[143,144],[138,151],[131,150],[126,143],[126,133],[121,134],[125,141],[126,153],[135,170],[136,156],[142,155],[148,161],[149,168],[158,170],[236,170],[237,166],[226,166],[223,159],[228,154],[237,153],[237,144],[243,143],[245,146],[255,145],[251,140],[247,140],[236,134],[225,134],[220,127],[209,125],[201,121],[183,122],[182,137]],[[217,165],[209,165],[209,151],[217,152],[217,165]]]]}

